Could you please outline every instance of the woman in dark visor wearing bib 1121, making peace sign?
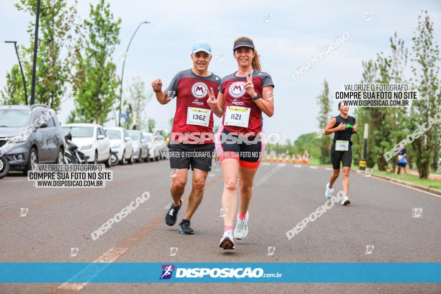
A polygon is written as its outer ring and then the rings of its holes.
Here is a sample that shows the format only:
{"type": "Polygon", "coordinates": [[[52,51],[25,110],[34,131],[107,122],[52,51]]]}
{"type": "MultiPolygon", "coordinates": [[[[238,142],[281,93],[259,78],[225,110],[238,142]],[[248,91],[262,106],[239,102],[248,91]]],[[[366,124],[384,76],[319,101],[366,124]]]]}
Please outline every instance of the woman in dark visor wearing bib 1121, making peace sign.
{"type": "Polygon", "coordinates": [[[235,249],[234,238],[243,239],[248,234],[248,208],[254,176],[265,153],[261,134],[262,112],[269,117],[274,114],[274,84],[269,74],[261,72],[253,41],[246,37],[237,39],[233,55],[238,62],[238,71],[222,79],[217,99],[211,92],[207,100],[214,114],[224,116],[215,139],[224,175],[222,207],[227,209],[224,235],[219,243],[224,249],[235,249]],[[240,205],[233,233],[238,178],[240,205]]]}

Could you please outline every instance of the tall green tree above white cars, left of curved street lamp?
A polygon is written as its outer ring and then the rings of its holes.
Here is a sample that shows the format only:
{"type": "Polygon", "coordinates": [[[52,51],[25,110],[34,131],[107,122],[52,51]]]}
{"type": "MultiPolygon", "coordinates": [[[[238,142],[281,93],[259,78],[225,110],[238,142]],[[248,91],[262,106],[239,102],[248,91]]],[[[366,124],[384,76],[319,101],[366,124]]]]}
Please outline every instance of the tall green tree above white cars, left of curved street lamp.
{"type": "Polygon", "coordinates": [[[76,46],[76,73],[72,76],[73,90],[77,91],[76,108],[87,122],[103,124],[112,105],[118,99],[119,80],[116,66],[110,59],[119,44],[121,19],[113,20],[110,5],[104,0],[94,7],[90,4],[90,21],[84,21],[84,30],[76,46]]]}

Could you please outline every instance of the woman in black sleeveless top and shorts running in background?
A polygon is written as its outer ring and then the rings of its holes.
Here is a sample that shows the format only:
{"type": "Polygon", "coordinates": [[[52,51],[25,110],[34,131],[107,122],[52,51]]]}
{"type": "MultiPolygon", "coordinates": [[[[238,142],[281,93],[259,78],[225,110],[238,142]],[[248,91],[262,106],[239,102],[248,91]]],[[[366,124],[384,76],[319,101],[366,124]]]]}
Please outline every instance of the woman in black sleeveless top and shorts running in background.
{"type": "Polygon", "coordinates": [[[343,105],[343,102],[338,104],[338,110],[340,114],[331,119],[326,125],[325,135],[335,133],[334,141],[331,146],[331,162],[334,169],[331,175],[331,180],[326,184],[325,196],[331,198],[334,189],[335,180],[340,174],[340,162],[343,166],[343,191],[345,196],[341,199],[341,205],[349,205],[348,192],[349,192],[349,172],[351,171],[352,163],[352,134],[357,133],[358,125],[355,124],[355,117],[349,116],[349,107],[343,105]]]}

